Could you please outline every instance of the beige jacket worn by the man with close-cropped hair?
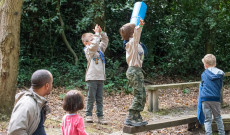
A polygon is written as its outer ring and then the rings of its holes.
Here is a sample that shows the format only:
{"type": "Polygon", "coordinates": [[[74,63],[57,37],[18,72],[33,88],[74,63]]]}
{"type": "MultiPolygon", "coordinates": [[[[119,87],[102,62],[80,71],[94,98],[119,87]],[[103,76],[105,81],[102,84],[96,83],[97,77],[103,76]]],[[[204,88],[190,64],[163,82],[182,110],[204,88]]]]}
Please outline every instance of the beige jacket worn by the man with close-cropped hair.
{"type": "Polygon", "coordinates": [[[47,102],[32,89],[16,95],[7,135],[32,135],[40,122],[40,112],[47,102]]]}

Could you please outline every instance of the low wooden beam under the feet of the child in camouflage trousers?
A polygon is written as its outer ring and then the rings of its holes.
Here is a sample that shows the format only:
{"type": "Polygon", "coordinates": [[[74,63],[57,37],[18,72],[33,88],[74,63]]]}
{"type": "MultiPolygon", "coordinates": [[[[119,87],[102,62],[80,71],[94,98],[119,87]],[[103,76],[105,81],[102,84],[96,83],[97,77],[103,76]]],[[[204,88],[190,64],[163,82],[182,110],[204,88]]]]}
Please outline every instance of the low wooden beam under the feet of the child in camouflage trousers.
{"type": "Polygon", "coordinates": [[[197,121],[197,118],[195,115],[189,115],[186,117],[180,117],[180,118],[173,118],[173,119],[167,119],[167,120],[159,120],[155,122],[149,122],[146,126],[140,126],[140,127],[132,127],[132,126],[124,126],[123,132],[124,133],[138,133],[143,131],[150,131],[155,129],[161,129],[166,127],[173,127],[188,123],[194,123],[197,121]]]}

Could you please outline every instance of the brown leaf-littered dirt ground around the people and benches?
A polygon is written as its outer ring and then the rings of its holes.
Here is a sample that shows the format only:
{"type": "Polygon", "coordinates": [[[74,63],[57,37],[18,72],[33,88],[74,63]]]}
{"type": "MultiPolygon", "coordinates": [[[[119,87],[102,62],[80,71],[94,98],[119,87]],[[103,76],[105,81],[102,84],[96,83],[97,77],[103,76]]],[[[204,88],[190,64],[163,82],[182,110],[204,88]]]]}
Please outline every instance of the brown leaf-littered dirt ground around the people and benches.
{"type": "MultiPolygon", "coordinates": [[[[229,114],[230,107],[230,88],[224,87],[224,103],[222,114],[229,114]]],[[[86,90],[81,90],[86,97],[86,90]]],[[[45,122],[47,135],[61,135],[61,120],[66,112],[62,109],[63,96],[67,92],[64,88],[56,88],[47,96],[49,106],[52,112],[48,115],[45,122]]],[[[104,93],[104,118],[109,122],[108,125],[95,123],[85,123],[86,131],[89,135],[107,135],[122,134],[123,122],[132,102],[131,94],[108,94],[104,93]]],[[[147,107],[141,113],[143,118],[149,122],[162,119],[173,119],[185,115],[196,115],[198,88],[191,89],[167,89],[159,91],[159,108],[156,113],[147,111],[147,107]]],[[[86,98],[85,98],[86,100],[86,98]]],[[[85,117],[85,109],[79,111],[82,117],[85,117]]],[[[96,121],[96,109],[93,110],[93,118],[96,121]]],[[[8,121],[0,122],[0,135],[7,130],[8,121]]],[[[136,135],[199,135],[204,131],[187,131],[187,125],[181,125],[170,128],[163,128],[148,132],[137,133],[136,135]]]]}

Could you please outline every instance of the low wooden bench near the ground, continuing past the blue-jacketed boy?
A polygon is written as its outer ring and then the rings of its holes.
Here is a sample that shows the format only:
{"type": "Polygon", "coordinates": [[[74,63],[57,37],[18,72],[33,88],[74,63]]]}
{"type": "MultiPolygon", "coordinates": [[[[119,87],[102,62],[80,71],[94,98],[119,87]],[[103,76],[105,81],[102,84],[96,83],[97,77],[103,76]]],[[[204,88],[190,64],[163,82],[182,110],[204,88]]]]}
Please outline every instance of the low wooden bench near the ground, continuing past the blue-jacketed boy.
{"type": "MultiPolygon", "coordinates": [[[[230,131],[230,115],[229,114],[223,114],[222,119],[224,122],[225,131],[230,131]]],[[[123,132],[134,134],[138,132],[143,131],[150,131],[155,129],[161,129],[161,128],[167,128],[167,127],[174,127],[179,125],[188,124],[188,130],[191,130],[195,128],[195,125],[198,124],[198,120],[195,115],[189,115],[189,116],[182,116],[179,118],[173,118],[173,119],[165,119],[165,120],[157,120],[153,122],[149,122],[146,126],[140,126],[140,127],[133,127],[133,126],[124,126],[123,132]]],[[[212,124],[213,131],[217,131],[216,124],[213,122],[212,124]]]]}

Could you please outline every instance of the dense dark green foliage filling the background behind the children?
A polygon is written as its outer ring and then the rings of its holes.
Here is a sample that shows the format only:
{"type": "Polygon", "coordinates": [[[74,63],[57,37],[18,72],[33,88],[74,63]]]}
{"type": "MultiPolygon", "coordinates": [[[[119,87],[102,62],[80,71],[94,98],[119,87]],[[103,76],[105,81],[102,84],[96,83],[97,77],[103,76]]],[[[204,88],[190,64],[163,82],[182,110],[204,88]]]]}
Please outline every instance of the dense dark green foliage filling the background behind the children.
{"type": "MultiPolygon", "coordinates": [[[[61,0],[62,28],[56,11],[57,0],[25,0],[21,22],[19,86],[28,86],[31,74],[40,68],[54,75],[54,86],[85,87],[86,59],[81,35],[93,32],[95,24],[109,36],[106,56],[105,89],[127,89],[127,63],[119,28],[130,21],[136,1],[130,0],[61,0]],[[79,58],[79,65],[66,48],[60,33],[65,29],[68,41],[79,58]]],[[[217,66],[229,71],[230,2],[153,1],[148,6],[141,42],[148,48],[143,69],[145,77],[200,76],[201,59],[206,52],[217,57],[217,66]]]]}

